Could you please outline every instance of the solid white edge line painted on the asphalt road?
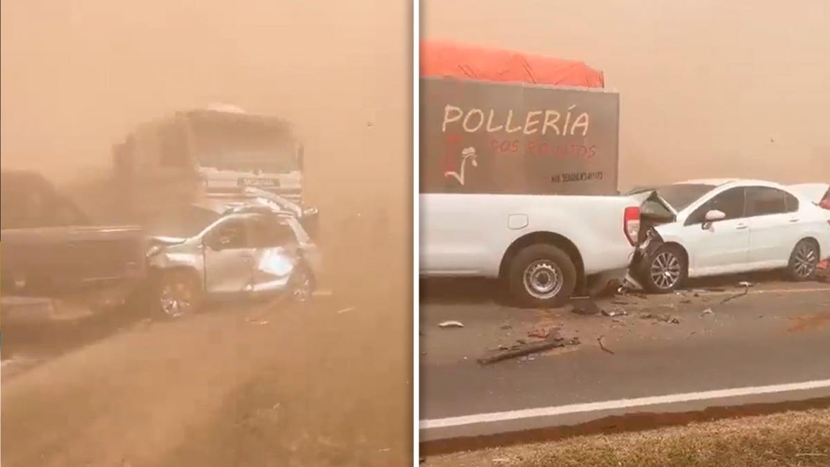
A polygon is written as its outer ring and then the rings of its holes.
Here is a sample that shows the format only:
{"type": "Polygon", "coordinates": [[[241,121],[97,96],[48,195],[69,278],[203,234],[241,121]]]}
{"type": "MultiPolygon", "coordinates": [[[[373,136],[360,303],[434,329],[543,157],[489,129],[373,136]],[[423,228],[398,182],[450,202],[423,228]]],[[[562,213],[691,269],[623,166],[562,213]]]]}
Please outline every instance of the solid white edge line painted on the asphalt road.
{"type": "Polygon", "coordinates": [[[588,402],[585,404],[570,404],[568,406],[540,407],[537,409],[510,410],[506,412],[493,412],[489,414],[463,415],[434,420],[421,420],[419,426],[421,430],[430,430],[433,428],[449,428],[452,426],[522,420],[552,415],[594,412],[598,410],[657,406],[660,404],[673,404],[677,402],[706,401],[707,399],[756,396],[761,394],[774,394],[777,392],[807,391],[810,389],[821,388],[830,388],[830,380],[804,381],[800,383],[779,384],[773,386],[739,387],[715,391],[688,392],[686,394],[671,394],[668,396],[638,397],[637,399],[620,399],[618,401],[588,402]]]}

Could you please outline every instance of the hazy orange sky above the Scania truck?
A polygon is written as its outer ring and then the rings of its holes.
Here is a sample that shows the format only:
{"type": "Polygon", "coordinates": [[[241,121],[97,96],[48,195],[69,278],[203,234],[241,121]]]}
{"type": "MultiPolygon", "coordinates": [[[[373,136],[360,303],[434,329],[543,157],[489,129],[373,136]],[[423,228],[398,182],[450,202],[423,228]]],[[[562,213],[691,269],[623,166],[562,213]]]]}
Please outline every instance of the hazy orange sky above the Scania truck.
{"type": "Polygon", "coordinates": [[[108,169],[134,125],[224,102],[295,122],[312,191],[411,199],[408,2],[0,4],[3,168],[108,169]]]}

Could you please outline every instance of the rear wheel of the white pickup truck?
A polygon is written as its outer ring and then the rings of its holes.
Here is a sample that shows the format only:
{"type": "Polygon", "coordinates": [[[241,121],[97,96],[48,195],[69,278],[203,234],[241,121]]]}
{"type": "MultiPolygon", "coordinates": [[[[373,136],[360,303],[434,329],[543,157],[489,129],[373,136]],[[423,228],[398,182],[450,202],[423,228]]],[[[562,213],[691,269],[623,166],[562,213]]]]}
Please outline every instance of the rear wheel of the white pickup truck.
{"type": "Polygon", "coordinates": [[[506,280],[521,306],[560,307],[574,293],[577,272],[574,260],[561,248],[535,243],[512,258],[506,280]]]}

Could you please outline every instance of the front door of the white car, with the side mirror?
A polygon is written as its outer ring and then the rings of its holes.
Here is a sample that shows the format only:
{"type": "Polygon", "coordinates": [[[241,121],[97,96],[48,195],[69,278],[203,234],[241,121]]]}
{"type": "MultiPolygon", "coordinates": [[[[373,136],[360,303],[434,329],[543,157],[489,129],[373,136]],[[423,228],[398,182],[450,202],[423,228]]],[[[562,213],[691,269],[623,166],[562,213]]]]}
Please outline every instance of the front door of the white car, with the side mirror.
{"type": "Polygon", "coordinates": [[[726,189],[686,218],[683,227],[690,275],[735,273],[749,263],[749,222],[745,218],[743,187],[726,189]],[[725,219],[706,222],[706,213],[719,210],[725,219]]]}

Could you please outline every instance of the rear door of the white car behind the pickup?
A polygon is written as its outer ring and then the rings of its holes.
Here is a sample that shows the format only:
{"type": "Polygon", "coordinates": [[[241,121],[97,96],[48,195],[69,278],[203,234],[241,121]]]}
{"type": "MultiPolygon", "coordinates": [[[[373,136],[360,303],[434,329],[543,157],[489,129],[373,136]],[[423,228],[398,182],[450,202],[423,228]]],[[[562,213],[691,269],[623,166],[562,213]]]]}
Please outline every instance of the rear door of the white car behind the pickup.
{"type": "Polygon", "coordinates": [[[757,269],[783,268],[803,229],[798,199],[782,189],[750,186],[746,189],[746,205],[749,263],[757,269]]]}

